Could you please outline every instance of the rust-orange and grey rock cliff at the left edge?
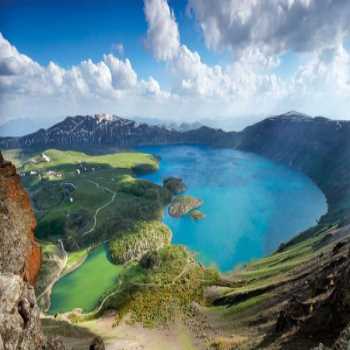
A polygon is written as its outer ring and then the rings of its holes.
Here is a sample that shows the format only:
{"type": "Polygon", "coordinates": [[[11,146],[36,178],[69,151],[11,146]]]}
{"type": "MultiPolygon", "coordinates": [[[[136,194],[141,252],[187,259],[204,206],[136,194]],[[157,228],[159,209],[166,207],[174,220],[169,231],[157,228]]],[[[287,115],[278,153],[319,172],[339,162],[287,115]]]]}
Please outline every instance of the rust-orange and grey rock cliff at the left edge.
{"type": "Polygon", "coordinates": [[[15,167],[0,153],[0,349],[63,350],[42,332],[33,284],[41,254],[35,218],[15,167]]]}

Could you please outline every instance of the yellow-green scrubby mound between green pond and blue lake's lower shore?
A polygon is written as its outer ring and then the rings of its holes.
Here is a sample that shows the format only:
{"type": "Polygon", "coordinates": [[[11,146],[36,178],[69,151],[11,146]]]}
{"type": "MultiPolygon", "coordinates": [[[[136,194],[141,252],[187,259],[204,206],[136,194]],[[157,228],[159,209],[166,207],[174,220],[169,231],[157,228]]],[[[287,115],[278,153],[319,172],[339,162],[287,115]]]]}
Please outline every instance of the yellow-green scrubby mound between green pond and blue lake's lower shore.
{"type": "Polygon", "coordinates": [[[174,322],[192,302],[203,302],[204,288],[217,279],[217,271],[200,266],[185,247],[170,245],[159,250],[155,267],[137,264],[121,275],[105,307],[118,310],[120,317],[130,313],[132,321],[145,326],[174,322]]]}

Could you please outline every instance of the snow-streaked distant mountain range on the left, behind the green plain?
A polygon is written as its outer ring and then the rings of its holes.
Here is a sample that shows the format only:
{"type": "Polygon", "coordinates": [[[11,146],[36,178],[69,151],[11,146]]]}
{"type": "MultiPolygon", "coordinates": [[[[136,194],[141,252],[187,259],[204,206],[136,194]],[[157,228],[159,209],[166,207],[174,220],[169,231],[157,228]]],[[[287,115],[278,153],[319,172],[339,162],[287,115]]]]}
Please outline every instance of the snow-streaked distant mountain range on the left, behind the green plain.
{"type": "MultiPolygon", "coordinates": [[[[180,128],[159,125],[148,125],[113,115],[98,114],[94,116],[67,117],[62,122],[48,129],[40,129],[22,137],[0,138],[0,148],[32,148],[32,147],[89,147],[115,146],[120,148],[149,144],[183,143],[191,141],[192,131],[189,126],[182,126],[190,131],[178,131],[180,128]],[[189,139],[187,139],[189,137],[189,139]]],[[[205,138],[197,140],[206,143],[215,129],[201,127],[205,138]]],[[[201,136],[199,133],[198,136],[201,136]]]]}

